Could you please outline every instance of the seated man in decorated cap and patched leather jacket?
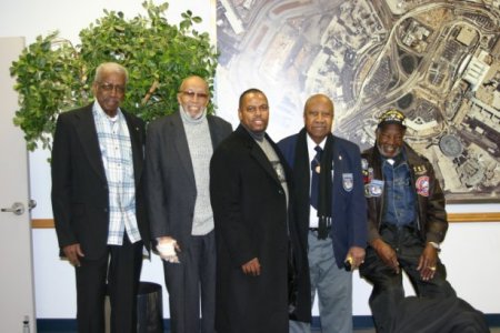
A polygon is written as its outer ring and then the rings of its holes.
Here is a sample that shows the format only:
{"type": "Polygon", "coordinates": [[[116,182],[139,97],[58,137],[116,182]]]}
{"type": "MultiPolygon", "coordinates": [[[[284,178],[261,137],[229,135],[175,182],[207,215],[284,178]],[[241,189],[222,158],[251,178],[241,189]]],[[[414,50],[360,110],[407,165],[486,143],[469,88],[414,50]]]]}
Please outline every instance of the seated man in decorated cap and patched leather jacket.
{"type": "Polygon", "coordinates": [[[369,246],[360,273],[373,284],[369,302],[378,332],[390,331],[404,299],[401,270],[419,297],[456,295],[438,256],[448,230],[444,195],[429,160],[404,143],[406,129],[403,113],[382,113],[376,144],[361,161],[369,246]]]}

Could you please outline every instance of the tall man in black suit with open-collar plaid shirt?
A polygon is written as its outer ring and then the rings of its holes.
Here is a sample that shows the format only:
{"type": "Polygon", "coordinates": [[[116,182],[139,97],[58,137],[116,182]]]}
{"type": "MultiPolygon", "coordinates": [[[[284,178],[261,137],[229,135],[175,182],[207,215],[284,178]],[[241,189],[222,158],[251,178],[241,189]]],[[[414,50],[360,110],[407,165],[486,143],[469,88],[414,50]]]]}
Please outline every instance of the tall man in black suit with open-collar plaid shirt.
{"type": "Polygon", "coordinates": [[[78,332],[137,331],[137,289],[149,225],[142,189],[144,123],[120,109],[128,73],[96,70],[96,101],[59,115],[52,149],[52,210],[61,255],[76,268],[78,332]],[[107,285],[108,284],[108,285],[107,285]]]}

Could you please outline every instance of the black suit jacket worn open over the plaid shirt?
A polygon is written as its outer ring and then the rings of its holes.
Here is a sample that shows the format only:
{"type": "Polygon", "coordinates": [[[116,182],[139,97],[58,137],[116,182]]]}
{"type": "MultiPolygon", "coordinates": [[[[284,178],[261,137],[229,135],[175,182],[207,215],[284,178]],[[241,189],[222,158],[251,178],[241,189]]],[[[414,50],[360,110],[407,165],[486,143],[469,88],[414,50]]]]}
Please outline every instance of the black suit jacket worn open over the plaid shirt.
{"type": "MultiPolygon", "coordinates": [[[[150,244],[142,189],[144,123],[122,113],[132,145],[136,179],[136,215],[142,241],[150,244]]],[[[59,246],[80,243],[87,259],[107,251],[109,191],[92,104],[61,113],[52,148],[52,211],[59,246]]]]}

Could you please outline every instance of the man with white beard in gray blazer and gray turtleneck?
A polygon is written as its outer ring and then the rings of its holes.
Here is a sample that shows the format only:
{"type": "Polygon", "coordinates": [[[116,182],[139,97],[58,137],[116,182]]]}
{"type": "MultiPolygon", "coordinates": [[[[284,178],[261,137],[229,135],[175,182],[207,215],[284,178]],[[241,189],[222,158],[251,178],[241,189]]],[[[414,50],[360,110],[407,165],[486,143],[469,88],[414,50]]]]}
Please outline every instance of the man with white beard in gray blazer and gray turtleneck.
{"type": "Polygon", "coordinates": [[[210,95],[202,78],[186,78],[177,98],[179,111],[148,128],[146,183],[151,236],[163,259],[171,332],[214,332],[216,239],[209,163],[232,128],[207,115],[210,95]]]}

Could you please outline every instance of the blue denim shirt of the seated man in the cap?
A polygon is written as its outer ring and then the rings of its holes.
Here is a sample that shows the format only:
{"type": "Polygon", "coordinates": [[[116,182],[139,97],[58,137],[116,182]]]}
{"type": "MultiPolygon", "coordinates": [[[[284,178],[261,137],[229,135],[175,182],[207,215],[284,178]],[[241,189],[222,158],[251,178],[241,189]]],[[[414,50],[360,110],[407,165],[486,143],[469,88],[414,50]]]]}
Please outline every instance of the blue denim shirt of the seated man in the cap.
{"type": "Polygon", "coordinates": [[[402,151],[396,159],[382,158],[384,208],[382,221],[397,226],[411,225],[417,218],[416,194],[410,167],[402,151]]]}

